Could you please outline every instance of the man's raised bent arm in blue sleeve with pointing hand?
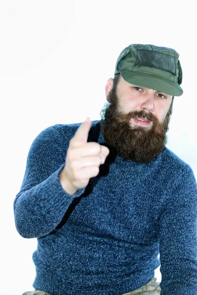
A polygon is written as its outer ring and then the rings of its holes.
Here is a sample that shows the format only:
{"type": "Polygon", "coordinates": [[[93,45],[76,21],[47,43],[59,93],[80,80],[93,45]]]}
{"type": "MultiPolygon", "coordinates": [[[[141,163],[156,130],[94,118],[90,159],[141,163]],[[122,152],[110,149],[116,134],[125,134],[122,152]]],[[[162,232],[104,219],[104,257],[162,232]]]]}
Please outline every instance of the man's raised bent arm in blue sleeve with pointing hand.
{"type": "Polygon", "coordinates": [[[90,119],[82,123],[74,137],[70,134],[71,140],[53,126],[33,142],[21,191],[14,202],[15,224],[21,236],[49,234],[62,221],[73,199],[85,191],[90,178],[99,174],[109,150],[87,142],[91,124],[90,119]]]}

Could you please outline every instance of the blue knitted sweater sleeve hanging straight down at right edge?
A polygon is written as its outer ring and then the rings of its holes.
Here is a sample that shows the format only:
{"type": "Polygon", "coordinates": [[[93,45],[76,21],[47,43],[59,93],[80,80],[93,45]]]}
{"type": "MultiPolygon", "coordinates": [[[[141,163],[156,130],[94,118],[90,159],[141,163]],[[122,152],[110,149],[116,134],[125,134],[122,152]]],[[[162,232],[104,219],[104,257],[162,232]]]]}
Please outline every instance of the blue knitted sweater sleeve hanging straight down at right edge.
{"type": "Polygon", "coordinates": [[[187,164],[175,177],[159,218],[161,295],[197,295],[197,183],[187,164]]]}

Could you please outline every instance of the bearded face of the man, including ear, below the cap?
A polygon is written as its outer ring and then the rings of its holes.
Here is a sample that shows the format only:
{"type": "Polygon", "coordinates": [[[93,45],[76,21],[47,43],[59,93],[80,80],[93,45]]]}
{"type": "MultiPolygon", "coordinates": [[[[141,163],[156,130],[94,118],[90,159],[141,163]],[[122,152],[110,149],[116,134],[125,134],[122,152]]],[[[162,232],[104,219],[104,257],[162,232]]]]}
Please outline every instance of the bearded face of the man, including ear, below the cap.
{"type": "Polygon", "coordinates": [[[105,143],[125,159],[149,162],[166,144],[172,96],[126,82],[106,85],[109,104],[101,111],[100,128],[105,143]]]}

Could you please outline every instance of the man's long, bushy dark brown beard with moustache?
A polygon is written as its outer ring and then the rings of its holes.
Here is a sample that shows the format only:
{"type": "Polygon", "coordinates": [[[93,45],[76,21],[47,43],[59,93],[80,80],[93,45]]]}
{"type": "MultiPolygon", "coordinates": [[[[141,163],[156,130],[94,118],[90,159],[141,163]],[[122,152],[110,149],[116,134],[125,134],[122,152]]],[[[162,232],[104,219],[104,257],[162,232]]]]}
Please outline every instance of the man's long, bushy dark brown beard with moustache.
{"type": "Polygon", "coordinates": [[[112,88],[107,103],[101,110],[100,129],[105,143],[115,148],[116,153],[125,160],[148,163],[154,159],[167,143],[166,132],[172,114],[172,103],[169,111],[160,122],[152,113],[133,111],[127,114],[120,110],[116,89],[112,88]],[[131,127],[131,118],[147,118],[152,121],[151,128],[135,125],[131,127]]]}

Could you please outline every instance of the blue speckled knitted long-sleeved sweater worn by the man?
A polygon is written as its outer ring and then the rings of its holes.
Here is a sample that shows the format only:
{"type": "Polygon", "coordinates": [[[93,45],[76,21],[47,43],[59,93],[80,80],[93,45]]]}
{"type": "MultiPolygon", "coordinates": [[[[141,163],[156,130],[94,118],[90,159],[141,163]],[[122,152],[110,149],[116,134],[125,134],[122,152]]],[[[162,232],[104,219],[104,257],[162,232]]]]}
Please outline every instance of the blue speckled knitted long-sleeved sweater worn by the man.
{"type": "MultiPolygon", "coordinates": [[[[17,231],[38,240],[34,288],[122,295],[150,281],[161,262],[161,295],[197,295],[197,184],[190,166],[167,148],[148,164],[110,150],[99,176],[71,196],[59,174],[78,126],[57,124],[37,136],[14,202],[17,231]]],[[[99,121],[88,141],[103,144],[99,121]]]]}

